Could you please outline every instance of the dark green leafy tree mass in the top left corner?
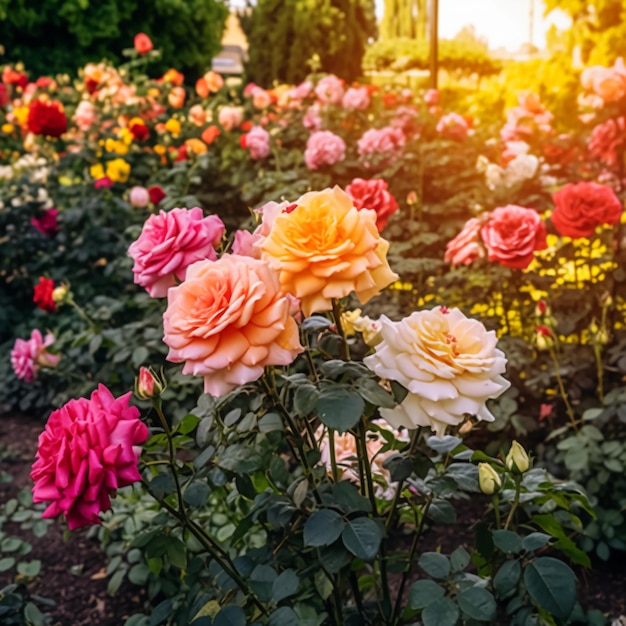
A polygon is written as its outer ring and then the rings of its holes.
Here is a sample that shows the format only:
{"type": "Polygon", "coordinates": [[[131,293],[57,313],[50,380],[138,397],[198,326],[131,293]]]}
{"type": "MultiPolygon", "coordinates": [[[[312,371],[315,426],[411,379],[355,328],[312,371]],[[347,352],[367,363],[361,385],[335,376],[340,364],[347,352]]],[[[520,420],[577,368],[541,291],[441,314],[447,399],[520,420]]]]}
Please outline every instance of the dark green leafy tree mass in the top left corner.
{"type": "Polygon", "coordinates": [[[120,61],[139,32],[163,53],[155,72],[177,67],[200,75],[221,48],[228,9],[220,0],[0,2],[0,40],[8,61],[37,76],[75,73],[88,61],[120,61]]]}

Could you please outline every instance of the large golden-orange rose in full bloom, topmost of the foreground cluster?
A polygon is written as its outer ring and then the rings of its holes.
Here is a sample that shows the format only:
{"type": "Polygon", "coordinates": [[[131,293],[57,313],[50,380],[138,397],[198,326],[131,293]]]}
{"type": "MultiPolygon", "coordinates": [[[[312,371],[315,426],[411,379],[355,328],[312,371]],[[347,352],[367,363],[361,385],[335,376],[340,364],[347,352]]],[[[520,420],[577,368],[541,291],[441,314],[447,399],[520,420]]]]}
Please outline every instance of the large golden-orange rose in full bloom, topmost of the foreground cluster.
{"type": "Polygon", "coordinates": [[[280,272],[283,290],[300,298],[306,316],[331,310],[333,298],[352,291],[367,302],[398,278],[376,217],[359,211],[339,187],[306,193],[276,216],[262,258],[280,272]]]}

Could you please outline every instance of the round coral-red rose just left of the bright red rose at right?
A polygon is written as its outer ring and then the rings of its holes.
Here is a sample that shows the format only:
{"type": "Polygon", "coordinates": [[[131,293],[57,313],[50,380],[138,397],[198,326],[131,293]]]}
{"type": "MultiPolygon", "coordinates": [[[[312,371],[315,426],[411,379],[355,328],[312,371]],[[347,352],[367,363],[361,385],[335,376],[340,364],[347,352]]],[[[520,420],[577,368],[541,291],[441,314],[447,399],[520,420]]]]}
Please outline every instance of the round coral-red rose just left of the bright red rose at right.
{"type": "Polygon", "coordinates": [[[537,211],[509,204],[492,211],[480,231],[490,261],[526,269],[536,250],[545,250],[546,225],[537,211]]]}

